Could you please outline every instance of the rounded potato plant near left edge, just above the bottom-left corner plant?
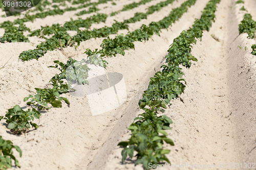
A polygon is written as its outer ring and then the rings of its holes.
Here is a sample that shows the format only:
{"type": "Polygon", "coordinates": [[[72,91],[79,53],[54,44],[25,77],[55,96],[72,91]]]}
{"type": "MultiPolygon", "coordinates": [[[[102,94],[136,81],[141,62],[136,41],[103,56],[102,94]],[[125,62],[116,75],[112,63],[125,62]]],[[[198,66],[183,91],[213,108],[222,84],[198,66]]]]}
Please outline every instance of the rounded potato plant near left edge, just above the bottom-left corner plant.
{"type": "Polygon", "coordinates": [[[11,109],[8,109],[8,112],[5,115],[6,123],[8,124],[8,129],[11,129],[11,132],[14,134],[20,134],[22,132],[26,133],[30,129],[30,125],[35,129],[38,128],[38,125],[32,123],[34,118],[40,117],[41,113],[34,108],[24,111],[18,105],[14,106],[11,109]]]}

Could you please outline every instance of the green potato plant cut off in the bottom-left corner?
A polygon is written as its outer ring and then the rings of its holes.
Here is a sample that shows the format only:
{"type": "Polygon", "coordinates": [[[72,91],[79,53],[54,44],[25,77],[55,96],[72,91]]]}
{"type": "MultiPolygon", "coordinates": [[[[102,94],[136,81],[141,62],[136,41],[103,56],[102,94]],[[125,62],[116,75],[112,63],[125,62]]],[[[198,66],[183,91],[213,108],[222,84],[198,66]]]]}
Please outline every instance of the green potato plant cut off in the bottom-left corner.
{"type": "Polygon", "coordinates": [[[6,170],[7,168],[12,168],[12,159],[15,161],[15,165],[20,167],[18,160],[14,157],[12,149],[16,149],[19,153],[19,157],[22,157],[22,150],[10,140],[4,140],[0,136],[0,169],[6,170]]]}

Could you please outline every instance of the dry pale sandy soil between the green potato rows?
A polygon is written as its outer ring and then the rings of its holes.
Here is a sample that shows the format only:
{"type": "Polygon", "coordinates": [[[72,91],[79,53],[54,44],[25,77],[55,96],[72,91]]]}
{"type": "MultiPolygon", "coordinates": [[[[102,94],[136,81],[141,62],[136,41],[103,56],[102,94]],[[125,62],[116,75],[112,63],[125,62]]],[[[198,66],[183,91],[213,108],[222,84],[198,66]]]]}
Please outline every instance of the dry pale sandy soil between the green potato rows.
{"type": "MultiPolygon", "coordinates": [[[[116,1],[115,8],[111,3],[103,4],[99,6],[99,12],[110,14],[132,2],[139,1],[116,1]]],[[[134,13],[145,11],[148,6],[159,2],[152,1],[121,12],[92,28],[110,26],[114,19],[121,21],[130,18],[134,13]]],[[[130,24],[130,31],[142,24],[162,19],[172,8],[179,7],[183,2],[185,0],[175,1],[147,19],[130,24]]],[[[147,42],[135,42],[135,50],[126,51],[125,56],[106,59],[109,62],[106,72],[119,72],[125,80],[127,101],[120,107],[92,116],[87,98],[65,94],[63,96],[70,100],[71,105],[63,104],[62,108],[43,112],[37,122],[37,130],[32,129],[20,136],[12,135],[2,120],[0,134],[23,151],[22,158],[15,152],[22,165],[21,169],[142,169],[141,165],[134,166],[134,159],[120,163],[122,149],[117,147],[117,143],[130,137],[127,127],[142,112],[138,108],[138,100],[149,78],[154,76],[154,68],[160,70],[163,57],[173,39],[182,30],[191,27],[195,18],[200,18],[207,2],[198,0],[168,31],[163,30],[160,37],[154,35],[147,42]]],[[[164,145],[164,148],[171,150],[167,157],[173,165],[209,164],[217,168],[205,169],[231,169],[228,163],[256,163],[256,149],[253,150],[256,146],[256,59],[250,54],[250,46],[255,40],[247,39],[246,34],[238,36],[238,25],[244,12],[239,11],[241,4],[236,5],[234,2],[222,0],[218,5],[216,21],[210,31],[204,32],[202,41],[198,40],[193,45],[192,54],[198,62],[193,62],[189,69],[183,68],[187,82],[185,93],[181,95],[184,103],[176,99],[164,113],[174,122],[173,129],[167,133],[174,140],[175,146],[164,145]],[[213,34],[215,39],[211,36],[213,34]],[[245,50],[245,46],[249,50],[245,50]],[[220,168],[220,164],[224,164],[225,168],[220,168]]],[[[255,2],[247,1],[244,6],[256,20],[256,12],[253,10],[256,8],[255,2]]],[[[75,19],[75,13],[67,13],[65,20],[63,16],[50,16],[27,23],[27,26],[36,29],[56,21],[64,23],[71,17],[75,19]]],[[[82,18],[91,15],[86,14],[82,18]]],[[[4,20],[0,18],[0,22],[4,20]]],[[[14,20],[14,17],[10,17],[10,20],[14,20]]],[[[90,39],[82,42],[76,51],[69,47],[63,53],[48,52],[38,61],[28,62],[18,61],[18,55],[35,48],[35,45],[23,42],[1,43],[3,60],[0,66],[12,58],[7,64],[9,66],[0,70],[0,114],[5,115],[7,109],[15,105],[26,108],[23,99],[29,94],[35,94],[35,87],[47,87],[48,81],[58,73],[47,67],[53,65],[54,60],[66,62],[68,57],[81,60],[86,57],[83,55],[86,48],[99,48],[103,39],[90,39]]],[[[36,43],[40,39],[31,37],[30,40],[36,43]]],[[[184,165],[169,169],[192,168],[184,165]]]]}

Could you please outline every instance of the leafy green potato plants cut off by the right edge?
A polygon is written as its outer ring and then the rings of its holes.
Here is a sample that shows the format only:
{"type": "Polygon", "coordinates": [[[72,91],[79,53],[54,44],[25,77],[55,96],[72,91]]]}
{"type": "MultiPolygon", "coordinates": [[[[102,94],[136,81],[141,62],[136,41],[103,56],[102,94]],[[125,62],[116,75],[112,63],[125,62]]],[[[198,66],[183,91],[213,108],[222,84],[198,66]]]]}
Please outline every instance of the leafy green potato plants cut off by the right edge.
{"type": "MultiPolygon", "coordinates": [[[[254,21],[250,14],[245,14],[244,19],[239,24],[239,34],[247,33],[247,38],[256,38],[256,21],[254,21]]],[[[256,44],[251,45],[252,55],[256,56],[256,44]]]]}

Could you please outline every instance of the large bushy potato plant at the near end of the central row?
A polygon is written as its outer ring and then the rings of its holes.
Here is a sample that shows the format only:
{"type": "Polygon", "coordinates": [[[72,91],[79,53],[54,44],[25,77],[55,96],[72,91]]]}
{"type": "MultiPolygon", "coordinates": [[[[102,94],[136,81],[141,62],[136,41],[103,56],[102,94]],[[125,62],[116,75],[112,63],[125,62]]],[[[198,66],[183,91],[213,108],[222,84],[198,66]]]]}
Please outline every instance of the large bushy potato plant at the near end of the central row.
{"type": "MultiPolygon", "coordinates": [[[[155,102],[156,103],[156,102],[155,102]]],[[[158,162],[169,160],[165,156],[170,150],[163,149],[163,141],[170,145],[174,145],[172,139],[167,137],[166,129],[172,124],[172,120],[163,115],[157,116],[156,109],[140,114],[134,119],[134,122],[128,129],[132,131],[129,141],[121,141],[118,143],[124,149],[122,150],[122,163],[129,157],[134,156],[137,152],[135,165],[142,163],[145,169],[149,169],[148,163],[157,164],[158,162]],[[162,135],[159,135],[161,133],[162,135]]]]}

